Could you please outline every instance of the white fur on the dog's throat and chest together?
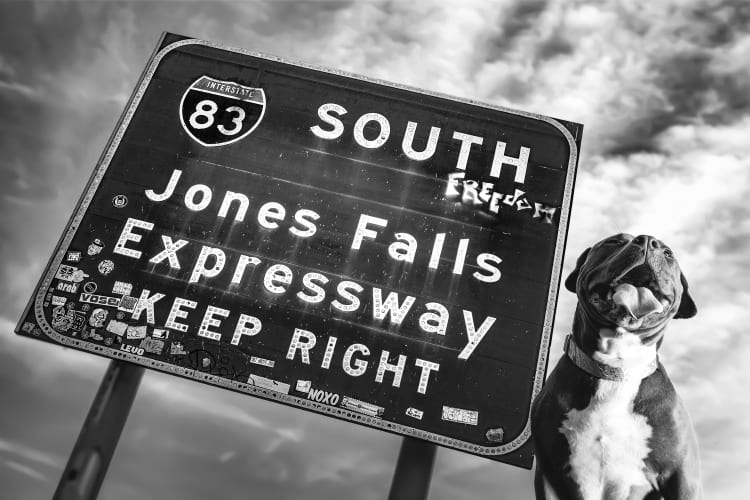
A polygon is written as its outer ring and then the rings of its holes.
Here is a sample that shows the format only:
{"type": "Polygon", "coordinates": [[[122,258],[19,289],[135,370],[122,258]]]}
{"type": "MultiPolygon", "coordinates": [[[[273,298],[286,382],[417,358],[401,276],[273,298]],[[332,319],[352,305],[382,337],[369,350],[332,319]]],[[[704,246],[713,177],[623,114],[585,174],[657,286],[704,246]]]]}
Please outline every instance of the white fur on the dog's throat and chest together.
{"type": "Polygon", "coordinates": [[[651,426],[633,403],[654,346],[632,334],[602,331],[594,359],[625,370],[622,381],[599,380],[589,405],[571,410],[560,427],[570,446],[570,474],[586,500],[626,500],[649,485],[644,459],[651,426]]]}

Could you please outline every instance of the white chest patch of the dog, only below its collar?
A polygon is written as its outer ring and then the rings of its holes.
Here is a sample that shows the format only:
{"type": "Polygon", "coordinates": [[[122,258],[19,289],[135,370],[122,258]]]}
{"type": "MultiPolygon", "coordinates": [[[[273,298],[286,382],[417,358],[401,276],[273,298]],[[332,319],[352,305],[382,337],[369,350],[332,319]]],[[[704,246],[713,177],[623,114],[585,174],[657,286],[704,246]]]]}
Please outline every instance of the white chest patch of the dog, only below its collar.
{"type": "Polygon", "coordinates": [[[589,405],[571,410],[560,428],[570,446],[570,474],[583,498],[642,498],[650,489],[645,458],[652,428],[633,411],[641,379],[599,380],[589,405]]]}

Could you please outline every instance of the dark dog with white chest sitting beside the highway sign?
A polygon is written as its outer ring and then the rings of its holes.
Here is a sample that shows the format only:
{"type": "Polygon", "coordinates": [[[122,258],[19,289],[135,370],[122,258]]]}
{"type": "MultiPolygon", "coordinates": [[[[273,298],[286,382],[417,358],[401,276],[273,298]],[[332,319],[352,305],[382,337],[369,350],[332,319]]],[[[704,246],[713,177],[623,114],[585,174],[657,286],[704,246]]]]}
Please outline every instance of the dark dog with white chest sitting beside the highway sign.
{"type": "Polygon", "coordinates": [[[611,236],[565,287],[572,334],[531,410],[537,500],[703,498],[695,431],[657,354],[670,320],[696,314],[672,250],[611,236]]]}

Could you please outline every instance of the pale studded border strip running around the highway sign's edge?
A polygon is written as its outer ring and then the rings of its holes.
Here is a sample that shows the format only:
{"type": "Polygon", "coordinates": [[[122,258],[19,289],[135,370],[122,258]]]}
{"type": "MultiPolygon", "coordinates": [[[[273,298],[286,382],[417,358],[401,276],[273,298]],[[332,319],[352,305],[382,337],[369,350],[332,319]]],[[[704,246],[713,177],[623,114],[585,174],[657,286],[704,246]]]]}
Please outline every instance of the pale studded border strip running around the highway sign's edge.
{"type": "MultiPolygon", "coordinates": [[[[166,36],[167,36],[166,33],[162,35],[160,39],[160,44],[163,42],[166,36]]],[[[536,398],[536,396],[541,391],[542,385],[544,383],[545,373],[546,373],[547,363],[548,363],[548,352],[549,352],[549,346],[550,346],[551,337],[552,337],[552,327],[553,327],[554,318],[555,318],[556,299],[557,299],[558,290],[560,286],[563,254],[565,250],[565,242],[566,242],[567,233],[568,233],[571,202],[572,202],[572,197],[573,197],[573,187],[575,183],[576,169],[578,165],[578,145],[576,143],[575,138],[571,134],[571,132],[558,120],[547,117],[547,116],[538,115],[535,113],[529,113],[525,111],[514,110],[514,109],[508,109],[508,108],[504,108],[501,106],[473,101],[471,99],[451,96],[451,95],[442,94],[438,92],[432,92],[432,91],[428,91],[424,89],[410,87],[407,85],[396,84],[396,83],[379,80],[375,78],[369,78],[366,76],[357,75],[357,74],[353,74],[353,73],[349,73],[345,71],[334,70],[334,69],[329,69],[329,68],[320,67],[320,66],[314,66],[314,65],[310,65],[310,64],[306,64],[306,63],[302,63],[298,61],[292,61],[289,59],[284,59],[281,57],[272,56],[272,55],[268,55],[264,53],[253,52],[253,51],[246,50],[246,49],[228,47],[219,43],[209,42],[206,40],[201,40],[201,39],[196,39],[196,38],[187,38],[187,39],[179,40],[177,42],[173,42],[165,46],[161,50],[154,51],[154,54],[149,60],[146,70],[143,72],[141,76],[140,84],[138,85],[137,90],[134,92],[128,104],[128,108],[124,111],[122,118],[120,119],[117,125],[117,128],[113,134],[113,137],[110,140],[109,145],[107,146],[106,152],[100,158],[98,162],[98,166],[95,168],[84,190],[84,193],[78,203],[76,212],[71,217],[66,229],[64,230],[63,236],[61,237],[57,246],[57,252],[56,254],[54,254],[52,259],[50,259],[48,267],[45,271],[45,274],[43,275],[42,279],[40,279],[39,284],[37,285],[37,294],[36,296],[32,295],[32,298],[29,301],[29,304],[27,305],[24,311],[23,317],[19,320],[16,330],[20,331],[22,329],[22,325],[25,322],[28,316],[28,313],[33,305],[35,317],[38,323],[38,328],[47,337],[53,339],[55,342],[59,344],[74,347],[81,351],[89,351],[94,354],[109,357],[111,359],[119,359],[119,360],[127,361],[129,363],[141,365],[146,368],[157,368],[159,371],[162,371],[165,373],[172,373],[172,374],[179,375],[185,378],[195,379],[204,383],[210,383],[212,385],[225,387],[227,389],[231,389],[237,392],[243,392],[243,393],[250,394],[253,396],[262,397],[268,400],[276,400],[276,401],[290,404],[292,406],[296,406],[299,408],[316,411],[322,414],[329,414],[331,416],[334,416],[343,420],[347,420],[347,421],[354,422],[354,423],[360,423],[363,425],[368,425],[373,428],[379,428],[385,431],[394,432],[394,433],[398,433],[398,434],[405,435],[405,436],[412,436],[412,437],[416,437],[419,439],[424,439],[427,441],[431,441],[435,444],[448,446],[454,449],[463,450],[463,451],[473,453],[476,455],[480,455],[480,456],[492,457],[492,456],[498,456],[498,455],[506,455],[510,452],[513,452],[519,449],[521,446],[523,446],[531,437],[530,416],[529,418],[527,418],[526,425],[524,426],[521,433],[518,436],[516,436],[512,441],[502,444],[502,445],[498,445],[498,446],[482,446],[482,445],[477,445],[477,444],[470,443],[467,441],[461,441],[458,439],[449,438],[440,434],[423,431],[421,429],[417,429],[417,428],[410,427],[407,425],[389,422],[380,418],[370,417],[363,413],[357,413],[354,411],[348,411],[343,408],[317,403],[317,402],[310,401],[302,397],[293,396],[291,394],[275,392],[271,389],[266,389],[263,387],[250,385],[247,383],[230,381],[222,377],[218,377],[215,375],[210,375],[208,373],[201,372],[200,370],[166,364],[161,361],[155,361],[155,360],[143,358],[136,354],[123,352],[123,351],[112,349],[109,347],[98,346],[95,344],[91,344],[89,342],[84,342],[75,338],[67,337],[65,335],[62,335],[56,332],[50,327],[50,325],[47,323],[44,317],[42,304],[44,302],[46,291],[51,285],[52,280],[54,279],[57,268],[63,262],[66,249],[68,245],[70,244],[70,242],[72,241],[73,236],[76,230],[78,229],[80,223],[82,222],[83,217],[86,213],[86,210],[88,209],[94,197],[94,193],[96,192],[97,188],[99,187],[99,184],[102,181],[102,178],[104,177],[104,174],[109,168],[110,162],[112,161],[112,158],[114,157],[114,154],[116,153],[120,145],[120,142],[130,124],[130,121],[132,120],[133,115],[138,109],[138,106],[141,103],[143,95],[146,92],[146,89],[148,88],[154,76],[154,73],[156,72],[156,69],[161,63],[161,60],[164,59],[164,57],[166,57],[170,52],[176,49],[179,49],[181,47],[188,46],[188,45],[199,45],[199,46],[205,46],[205,47],[219,49],[219,50],[225,50],[225,51],[234,52],[237,54],[243,54],[243,55],[256,57],[259,59],[265,59],[265,60],[272,61],[272,62],[290,64],[290,65],[294,65],[294,66],[309,69],[309,70],[320,71],[320,72],[329,73],[332,75],[360,80],[366,83],[372,83],[375,85],[381,85],[381,86],[390,87],[393,89],[406,90],[409,92],[414,92],[414,93],[418,93],[418,94],[422,94],[422,95],[426,95],[430,97],[437,97],[437,98],[446,99],[446,100],[450,100],[450,101],[458,102],[462,104],[478,106],[478,107],[482,107],[482,108],[489,109],[489,110],[501,111],[501,112],[508,113],[508,114],[513,114],[513,115],[522,116],[525,118],[531,118],[534,120],[542,121],[556,128],[568,142],[570,154],[568,157],[568,165],[567,165],[568,170],[567,170],[566,179],[565,179],[565,187],[564,187],[562,206],[561,206],[561,211],[560,211],[560,222],[559,222],[559,226],[557,230],[555,254],[554,254],[553,263],[552,263],[552,277],[551,277],[552,279],[550,281],[549,293],[547,295],[547,305],[546,305],[546,310],[545,310],[544,323],[542,327],[540,349],[539,349],[539,354],[537,357],[537,364],[536,364],[536,369],[535,369],[534,383],[532,386],[531,400],[533,401],[534,398],[536,398]]]]}

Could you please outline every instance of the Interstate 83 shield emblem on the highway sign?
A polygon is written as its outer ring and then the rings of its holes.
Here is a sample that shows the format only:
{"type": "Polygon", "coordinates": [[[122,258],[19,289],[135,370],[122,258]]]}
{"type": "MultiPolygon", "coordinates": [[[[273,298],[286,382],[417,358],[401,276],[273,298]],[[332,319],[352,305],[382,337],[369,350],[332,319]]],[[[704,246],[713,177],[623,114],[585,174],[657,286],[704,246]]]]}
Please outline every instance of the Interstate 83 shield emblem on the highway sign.
{"type": "Polygon", "coordinates": [[[223,146],[250,135],[263,119],[263,89],[201,76],[185,91],[180,121],[188,135],[203,146],[223,146]]]}

